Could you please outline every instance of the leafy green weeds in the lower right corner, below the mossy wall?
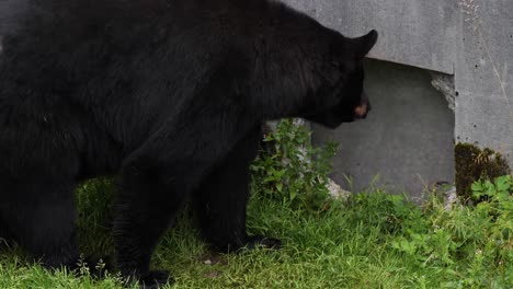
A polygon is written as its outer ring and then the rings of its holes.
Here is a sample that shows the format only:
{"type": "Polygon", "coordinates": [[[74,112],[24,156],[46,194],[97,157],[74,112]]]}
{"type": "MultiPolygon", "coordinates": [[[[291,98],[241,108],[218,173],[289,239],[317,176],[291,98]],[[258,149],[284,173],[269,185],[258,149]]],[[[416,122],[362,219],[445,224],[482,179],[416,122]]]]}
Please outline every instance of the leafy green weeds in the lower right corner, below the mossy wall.
{"type": "MultiPolygon", "coordinates": [[[[476,206],[446,210],[433,198],[429,206],[409,208],[401,233],[391,245],[448,276],[442,287],[511,288],[513,286],[513,183],[510,175],[475,182],[476,206]],[[422,210],[422,211],[421,211],[422,210]],[[408,216],[409,215],[409,216],[408,216]],[[422,218],[419,218],[422,217],[422,218]]],[[[399,210],[400,215],[403,210],[399,210]]]]}

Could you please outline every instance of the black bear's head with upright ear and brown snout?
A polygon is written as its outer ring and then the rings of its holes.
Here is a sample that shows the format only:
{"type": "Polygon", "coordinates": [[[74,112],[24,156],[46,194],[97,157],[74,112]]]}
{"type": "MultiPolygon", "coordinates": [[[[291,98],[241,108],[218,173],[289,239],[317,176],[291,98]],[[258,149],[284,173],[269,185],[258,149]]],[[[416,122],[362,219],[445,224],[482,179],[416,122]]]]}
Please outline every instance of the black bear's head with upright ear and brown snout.
{"type": "MultiPolygon", "coordinates": [[[[364,68],[363,59],[377,42],[378,34],[371,31],[367,35],[357,38],[344,38],[345,49],[331,54],[332,84],[319,92],[328,100],[326,106],[306,115],[305,118],[329,128],[337,128],[342,123],[351,123],[365,118],[371,111],[371,102],[363,89],[364,68]],[[334,67],[334,68],[333,68],[334,67]]],[[[335,47],[340,47],[337,44],[335,47]]]]}

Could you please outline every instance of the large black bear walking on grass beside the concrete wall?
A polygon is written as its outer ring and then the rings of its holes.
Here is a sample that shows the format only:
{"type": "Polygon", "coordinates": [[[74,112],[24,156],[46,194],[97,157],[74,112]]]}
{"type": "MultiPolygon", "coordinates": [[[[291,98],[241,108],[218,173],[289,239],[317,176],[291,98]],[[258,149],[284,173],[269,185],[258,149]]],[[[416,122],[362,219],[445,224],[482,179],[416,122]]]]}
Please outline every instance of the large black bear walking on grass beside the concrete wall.
{"type": "Polygon", "coordinates": [[[347,38],[271,0],[8,1],[0,27],[0,234],[76,263],[81,181],[118,174],[117,268],[147,285],[184,198],[219,251],[246,232],[249,164],[267,119],[365,117],[372,31],[347,38]],[[11,11],[11,12],[10,12],[11,11]]]}

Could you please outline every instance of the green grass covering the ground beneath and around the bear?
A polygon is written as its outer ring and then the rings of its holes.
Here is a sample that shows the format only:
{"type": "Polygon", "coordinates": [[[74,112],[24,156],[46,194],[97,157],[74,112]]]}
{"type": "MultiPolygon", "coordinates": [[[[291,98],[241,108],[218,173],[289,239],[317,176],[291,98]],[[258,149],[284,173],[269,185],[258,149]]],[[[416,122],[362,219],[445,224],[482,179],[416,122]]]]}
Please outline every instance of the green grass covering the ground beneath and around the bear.
{"type": "MultiPolygon", "coordinates": [[[[98,181],[79,192],[86,253],[113,253],[111,190],[107,181],[98,181]]],[[[280,238],[283,248],[212,255],[182,213],[152,266],[172,273],[169,288],[513,288],[513,203],[504,204],[493,216],[464,207],[447,212],[436,199],[418,207],[374,193],[311,213],[253,197],[250,233],[280,238]]],[[[123,288],[112,274],[95,281],[47,271],[18,247],[0,256],[0,288],[123,288]]]]}

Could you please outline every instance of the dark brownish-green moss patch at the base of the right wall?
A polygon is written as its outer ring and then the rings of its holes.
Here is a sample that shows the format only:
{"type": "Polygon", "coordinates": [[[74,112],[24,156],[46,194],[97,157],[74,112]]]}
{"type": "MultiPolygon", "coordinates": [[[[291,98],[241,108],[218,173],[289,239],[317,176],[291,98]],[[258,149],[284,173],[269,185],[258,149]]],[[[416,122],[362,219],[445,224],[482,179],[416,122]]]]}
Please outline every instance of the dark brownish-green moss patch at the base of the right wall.
{"type": "Polygon", "coordinates": [[[480,149],[470,143],[455,147],[456,192],[463,200],[472,199],[471,185],[479,178],[493,180],[510,174],[506,161],[499,152],[480,149]]]}

